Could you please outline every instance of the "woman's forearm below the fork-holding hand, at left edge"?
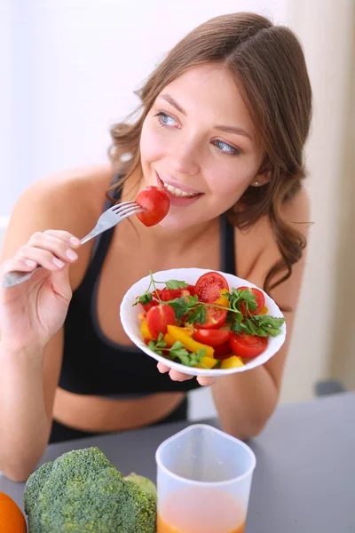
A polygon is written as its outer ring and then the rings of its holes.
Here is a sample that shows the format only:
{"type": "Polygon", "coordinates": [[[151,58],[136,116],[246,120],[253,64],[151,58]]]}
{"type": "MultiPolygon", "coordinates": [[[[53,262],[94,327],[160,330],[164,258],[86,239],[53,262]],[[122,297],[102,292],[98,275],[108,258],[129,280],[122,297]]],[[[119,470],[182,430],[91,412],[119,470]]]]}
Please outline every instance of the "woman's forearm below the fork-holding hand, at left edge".
{"type": "Polygon", "coordinates": [[[0,343],[0,471],[13,481],[28,477],[47,445],[43,356],[0,343]]]}

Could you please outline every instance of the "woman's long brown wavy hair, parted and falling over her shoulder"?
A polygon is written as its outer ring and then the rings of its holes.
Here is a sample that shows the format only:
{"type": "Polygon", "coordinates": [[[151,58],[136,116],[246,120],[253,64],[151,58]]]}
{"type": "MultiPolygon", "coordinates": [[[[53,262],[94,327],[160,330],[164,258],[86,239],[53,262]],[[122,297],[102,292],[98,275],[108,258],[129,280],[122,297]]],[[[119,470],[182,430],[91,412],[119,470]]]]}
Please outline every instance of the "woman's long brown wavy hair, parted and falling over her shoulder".
{"type": "Polygon", "coordinates": [[[137,91],[138,109],[126,122],[111,128],[113,143],[108,154],[125,178],[107,194],[122,187],[137,166],[142,125],[162,89],[188,68],[210,62],[225,65],[235,76],[263,149],[260,171],[267,169],[271,174],[267,184],[248,187],[227,212],[228,219],[241,229],[263,215],[270,219],[282,257],[266,276],[264,290],[270,292],[288,279],[306,245],[304,235],[282,215],[282,204],[296,195],[305,176],[304,143],[312,116],[304,53],[289,28],[275,26],[256,13],[239,12],[208,20],[185,36],[137,91]],[[130,154],[130,161],[122,163],[125,154],[130,154]]]}

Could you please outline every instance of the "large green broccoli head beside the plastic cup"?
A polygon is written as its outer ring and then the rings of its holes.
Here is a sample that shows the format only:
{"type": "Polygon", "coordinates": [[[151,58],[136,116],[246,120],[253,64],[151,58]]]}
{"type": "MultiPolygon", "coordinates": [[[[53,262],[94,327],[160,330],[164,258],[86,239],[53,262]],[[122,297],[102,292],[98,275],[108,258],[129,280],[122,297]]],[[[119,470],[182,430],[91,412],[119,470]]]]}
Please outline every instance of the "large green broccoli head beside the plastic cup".
{"type": "Polygon", "coordinates": [[[155,533],[154,497],[125,481],[98,448],[69,451],[25,487],[28,533],[155,533]]]}

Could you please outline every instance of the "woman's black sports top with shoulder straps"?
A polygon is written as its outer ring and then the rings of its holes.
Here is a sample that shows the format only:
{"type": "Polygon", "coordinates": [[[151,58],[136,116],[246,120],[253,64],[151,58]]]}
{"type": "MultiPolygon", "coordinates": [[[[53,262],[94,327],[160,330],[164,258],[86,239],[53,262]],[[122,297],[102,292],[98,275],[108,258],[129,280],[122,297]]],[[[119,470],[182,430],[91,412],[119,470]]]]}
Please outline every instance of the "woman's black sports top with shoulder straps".
{"type": "MultiPolygon", "coordinates": [[[[119,200],[119,197],[118,192],[114,200],[119,200]]],[[[105,210],[111,205],[106,200],[105,210]]],[[[234,228],[224,215],[220,220],[220,270],[235,274],[234,228]]],[[[117,345],[100,330],[97,318],[99,274],[113,234],[114,228],[96,238],[89,267],[73,293],[64,326],[59,386],[71,393],[116,398],[157,392],[187,392],[198,388],[196,379],[172,381],[169,374],[161,374],[156,368],[157,362],[138,347],[117,345]]]]}

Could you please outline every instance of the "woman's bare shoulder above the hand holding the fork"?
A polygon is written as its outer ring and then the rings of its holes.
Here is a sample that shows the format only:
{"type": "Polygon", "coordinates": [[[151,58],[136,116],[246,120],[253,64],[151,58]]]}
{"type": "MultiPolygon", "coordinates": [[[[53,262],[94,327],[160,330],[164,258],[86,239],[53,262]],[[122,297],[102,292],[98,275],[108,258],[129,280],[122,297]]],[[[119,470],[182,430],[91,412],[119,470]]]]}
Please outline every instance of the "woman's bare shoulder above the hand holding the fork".
{"type": "MultiPolygon", "coordinates": [[[[39,179],[16,202],[7,227],[2,260],[10,259],[31,235],[46,229],[61,229],[82,238],[95,226],[113,177],[110,165],[69,169],[39,179]]],[[[70,267],[73,288],[83,278],[92,243],[80,251],[70,267]]]]}

